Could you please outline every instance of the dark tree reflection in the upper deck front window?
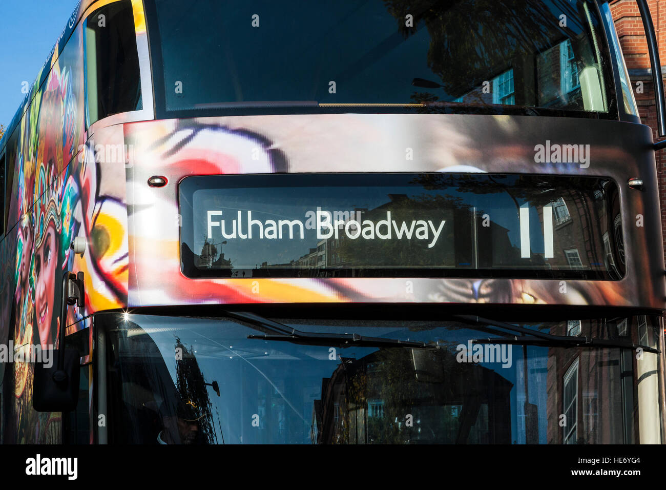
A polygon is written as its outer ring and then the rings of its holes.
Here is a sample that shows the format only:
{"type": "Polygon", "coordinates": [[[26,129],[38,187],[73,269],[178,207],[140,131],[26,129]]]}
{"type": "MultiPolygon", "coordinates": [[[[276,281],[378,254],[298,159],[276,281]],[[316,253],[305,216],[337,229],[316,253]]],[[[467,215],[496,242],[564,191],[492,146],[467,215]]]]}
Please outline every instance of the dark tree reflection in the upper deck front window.
{"type": "MultiPolygon", "coordinates": [[[[521,65],[533,63],[538,53],[553,47],[563,37],[575,38],[585,32],[579,21],[578,2],[384,0],[384,4],[405,39],[424,27],[427,29],[428,67],[434,75],[432,81],[440,83],[448,94],[444,100],[479,89],[484,82],[511,67],[522,70],[521,65]],[[408,15],[413,16],[412,24],[406,21],[408,15]],[[561,15],[566,16],[564,24],[561,15]]],[[[531,73],[525,76],[530,77],[531,73]]],[[[467,103],[487,105],[493,101],[492,95],[485,97],[481,91],[472,95],[476,97],[466,100],[467,103]]],[[[537,101],[531,95],[516,91],[515,103],[535,105],[537,101]]],[[[439,101],[440,95],[414,92],[411,99],[416,103],[432,103],[439,101]]],[[[437,108],[423,111],[437,111],[437,108]]]]}

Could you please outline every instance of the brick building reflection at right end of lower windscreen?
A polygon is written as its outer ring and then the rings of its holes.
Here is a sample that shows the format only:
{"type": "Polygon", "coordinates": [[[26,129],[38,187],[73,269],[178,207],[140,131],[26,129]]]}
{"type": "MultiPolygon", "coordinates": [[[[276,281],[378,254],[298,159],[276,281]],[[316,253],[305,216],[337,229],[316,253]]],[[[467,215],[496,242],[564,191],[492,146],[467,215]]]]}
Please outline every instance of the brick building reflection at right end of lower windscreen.
{"type": "MultiPolygon", "coordinates": [[[[638,315],[613,319],[569,320],[551,329],[553,335],[580,335],[588,338],[631,340],[635,345],[657,345],[655,332],[649,327],[653,317],[638,315]]],[[[645,359],[635,359],[633,349],[549,349],[547,360],[547,418],[565,415],[563,423],[549,423],[547,442],[550,444],[633,444],[638,406],[646,413],[655,405],[643,402],[634,388],[634,379],[641,379],[643,389],[657,392],[656,371],[645,353],[645,359]],[[579,374],[580,373],[580,374],[579,374]],[[583,374],[584,373],[584,374],[583,374]],[[652,383],[652,384],[651,384],[652,383]]],[[[654,356],[654,357],[653,357],[654,356]]],[[[654,412],[656,425],[645,425],[641,441],[658,437],[659,416],[654,412]]],[[[640,427],[640,425],[639,425],[640,427]]]]}

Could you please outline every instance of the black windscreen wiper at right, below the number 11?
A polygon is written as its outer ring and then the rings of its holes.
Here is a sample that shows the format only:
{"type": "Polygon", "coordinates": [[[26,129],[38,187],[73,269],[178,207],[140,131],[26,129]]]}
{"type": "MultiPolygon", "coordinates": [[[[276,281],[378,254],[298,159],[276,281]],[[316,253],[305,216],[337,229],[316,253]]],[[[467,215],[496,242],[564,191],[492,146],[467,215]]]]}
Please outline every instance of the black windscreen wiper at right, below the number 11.
{"type": "Polygon", "coordinates": [[[659,349],[654,349],[653,347],[648,347],[647,345],[638,345],[627,341],[621,340],[609,340],[609,339],[591,339],[589,337],[583,336],[565,336],[565,335],[551,335],[549,333],[543,333],[536,330],[525,329],[523,327],[518,327],[517,325],[512,325],[511,323],[505,323],[503,321],[490,320],[487,318],[478,317],[476,315],[454,315],[455,319],[460,319],[465,323],[482,323],[483,325],[490,327],[498,327],[501,329],[513,331],[516,333],[522,333],[522,336],[514,335],[513,337],[495,337],[488,339],[473,339],[472,343],[509,343],[509,344],[531,344],[539,345],[542,347],[589,347],[601,349],[603,347],[616,347],[619,349],[631,349],[635,351],[636,349],[642,349],[644,352],[651,352],[654,354],[659,354],[661,351],[659,349]]]}

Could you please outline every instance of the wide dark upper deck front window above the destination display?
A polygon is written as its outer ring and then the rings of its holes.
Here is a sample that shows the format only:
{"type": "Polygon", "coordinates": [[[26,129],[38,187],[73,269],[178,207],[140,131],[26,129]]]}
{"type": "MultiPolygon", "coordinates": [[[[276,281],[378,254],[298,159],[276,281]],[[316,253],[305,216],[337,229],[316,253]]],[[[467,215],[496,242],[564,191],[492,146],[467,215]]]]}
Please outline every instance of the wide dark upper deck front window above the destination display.
{"type": "Polygon", "coordinates": [[[172,115],[350,103],[617,111],[589,0],[147,0],[147,16],[158,109],[172,115]]]}

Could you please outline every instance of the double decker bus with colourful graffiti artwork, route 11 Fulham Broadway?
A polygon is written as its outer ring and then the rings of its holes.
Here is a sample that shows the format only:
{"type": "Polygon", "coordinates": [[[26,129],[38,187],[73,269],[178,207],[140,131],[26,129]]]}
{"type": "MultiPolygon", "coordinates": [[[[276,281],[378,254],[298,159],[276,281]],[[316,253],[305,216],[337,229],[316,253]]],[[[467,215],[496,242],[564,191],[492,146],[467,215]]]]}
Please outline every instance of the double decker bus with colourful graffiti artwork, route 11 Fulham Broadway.
{"type": "Polygon", "coordinates": [[[604,1],[82,0],[0,142],[0,439],[661,443],[662,146],[604,1]]]}

